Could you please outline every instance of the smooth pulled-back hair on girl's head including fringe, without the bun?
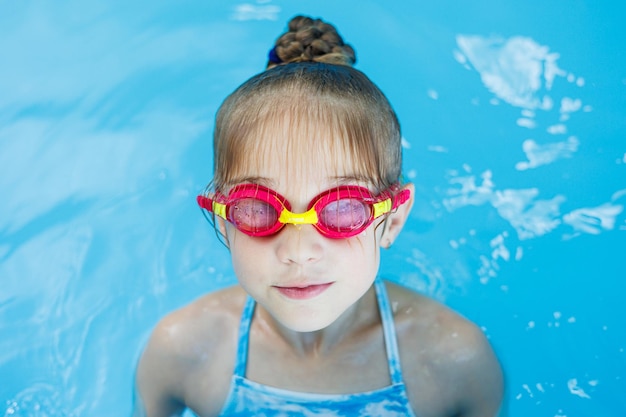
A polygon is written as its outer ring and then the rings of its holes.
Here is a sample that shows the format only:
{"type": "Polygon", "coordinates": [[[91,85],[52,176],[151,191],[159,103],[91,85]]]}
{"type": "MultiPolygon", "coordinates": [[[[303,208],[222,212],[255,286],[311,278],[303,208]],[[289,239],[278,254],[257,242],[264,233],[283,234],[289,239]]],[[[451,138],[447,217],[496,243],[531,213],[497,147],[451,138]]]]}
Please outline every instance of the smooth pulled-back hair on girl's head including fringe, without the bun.
{"type": "Polygon", "coordinates": [[[395,112],[362,72],[344,65],[278,65],[237,88],[218,110],[212,188],[224,190],[262,166],[268,152],[287,161],[322,151],[343,155],[363,180],[383,190],[400,180],[402,150],[395,112]],[[261,139],[281,132],[284,143],[261,139]],[[256,165],[255,165],[256,164],[256,165]]]}

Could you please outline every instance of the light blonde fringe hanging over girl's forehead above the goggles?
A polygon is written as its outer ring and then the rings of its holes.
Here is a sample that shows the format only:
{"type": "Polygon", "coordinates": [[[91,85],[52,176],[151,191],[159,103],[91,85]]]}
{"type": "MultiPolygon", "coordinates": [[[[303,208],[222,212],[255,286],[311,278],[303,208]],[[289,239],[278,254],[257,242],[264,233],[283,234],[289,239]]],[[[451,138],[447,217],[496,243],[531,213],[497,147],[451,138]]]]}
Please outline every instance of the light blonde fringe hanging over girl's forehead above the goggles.
{"type": "Polygon", "coordinates": [[[287,178],[302,178],[315,169],[329,177],[382,186],[374,132],[365,115],[349,103],[269,96],[251,107],[245,114],[253,116],[238,118],[224,136],[226,147],[220,152],[228,158],[215,172],[216,189],[254,178],[266,172],[268,164],[278,164],[280,175],[287,178]]]}

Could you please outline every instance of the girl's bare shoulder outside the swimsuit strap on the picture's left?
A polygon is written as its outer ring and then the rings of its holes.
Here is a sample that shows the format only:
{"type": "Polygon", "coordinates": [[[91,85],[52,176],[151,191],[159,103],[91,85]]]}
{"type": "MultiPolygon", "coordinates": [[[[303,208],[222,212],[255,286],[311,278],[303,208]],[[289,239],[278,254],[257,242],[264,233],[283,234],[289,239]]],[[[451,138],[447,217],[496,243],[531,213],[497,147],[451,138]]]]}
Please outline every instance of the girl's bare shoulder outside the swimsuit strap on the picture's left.
{"type": "Polygon", "coordinates": [[[159,321],[136,375],[147,409],[174,415],[186,405],[201,410],[200,415],[219,412],[218,405],[228,394],[245,300],[242,289],[228,288],[198,298],[159,321]]]}

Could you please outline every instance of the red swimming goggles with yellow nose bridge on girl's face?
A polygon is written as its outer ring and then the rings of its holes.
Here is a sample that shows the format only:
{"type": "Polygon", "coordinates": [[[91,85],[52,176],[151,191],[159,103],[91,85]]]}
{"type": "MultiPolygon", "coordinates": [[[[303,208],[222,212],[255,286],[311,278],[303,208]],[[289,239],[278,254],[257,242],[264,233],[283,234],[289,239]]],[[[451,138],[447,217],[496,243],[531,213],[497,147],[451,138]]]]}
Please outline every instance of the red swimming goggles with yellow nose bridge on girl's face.
{"type": "Polygon", "coordinates": [[[304,213],[292,213],[289,201],[258,184],[239,184],[227,196],[197,197],[198,205],[249,236],[270,236],[285,224],[311,224],[323,236],[342,239],[363,232],[378,217],[395,210],[411,195],[394,185],[377,196],[365,187],[343,185],[319,194],[304,213]]]}

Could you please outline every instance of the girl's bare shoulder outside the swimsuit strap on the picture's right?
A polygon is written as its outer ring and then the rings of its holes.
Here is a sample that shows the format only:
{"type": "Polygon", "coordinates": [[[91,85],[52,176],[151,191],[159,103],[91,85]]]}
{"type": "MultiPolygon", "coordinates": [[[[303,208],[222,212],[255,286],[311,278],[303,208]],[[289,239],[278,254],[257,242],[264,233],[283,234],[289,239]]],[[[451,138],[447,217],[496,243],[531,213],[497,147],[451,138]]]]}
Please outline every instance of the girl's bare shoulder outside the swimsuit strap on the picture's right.
{"type": "Polygon", "coordinates": [[[483,407],[497,407],[502,370],[483,330],[426,295],[391,283],[387,289],[403,375],[415,403],[451,415],[480,409],[474,404],[480,398],[483,407]]]}

